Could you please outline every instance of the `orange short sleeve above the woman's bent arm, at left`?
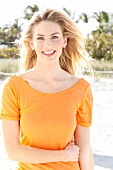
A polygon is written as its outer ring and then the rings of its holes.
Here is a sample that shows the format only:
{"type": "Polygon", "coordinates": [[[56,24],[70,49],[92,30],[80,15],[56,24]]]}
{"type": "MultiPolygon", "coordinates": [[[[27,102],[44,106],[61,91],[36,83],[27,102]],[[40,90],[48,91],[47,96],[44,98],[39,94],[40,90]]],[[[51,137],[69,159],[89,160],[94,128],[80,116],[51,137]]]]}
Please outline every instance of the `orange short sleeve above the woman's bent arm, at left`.
{"type": "Polygon", "coordinates": [[[6,78],[2,86],[0,115],[1,118],[9,120],[19,120],[20,118],[16,87],[10,77],[6,78]]]}

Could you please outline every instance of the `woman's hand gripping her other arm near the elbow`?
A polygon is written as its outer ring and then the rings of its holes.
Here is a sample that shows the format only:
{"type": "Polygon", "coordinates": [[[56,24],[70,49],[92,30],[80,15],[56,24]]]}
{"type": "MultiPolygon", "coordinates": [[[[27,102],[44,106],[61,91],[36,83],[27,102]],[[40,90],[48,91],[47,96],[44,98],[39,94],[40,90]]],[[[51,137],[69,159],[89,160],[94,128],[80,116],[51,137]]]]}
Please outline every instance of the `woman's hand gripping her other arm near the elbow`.
{"type": "Polygon", "coordinates": [[[67,147],[65,148],[65,160],[64,162],[68,162],[68,161],[78,161],[79,159],[79,147],[77,145],[75,145],[74,142],[71,142],[67,145],[67,147]]]}

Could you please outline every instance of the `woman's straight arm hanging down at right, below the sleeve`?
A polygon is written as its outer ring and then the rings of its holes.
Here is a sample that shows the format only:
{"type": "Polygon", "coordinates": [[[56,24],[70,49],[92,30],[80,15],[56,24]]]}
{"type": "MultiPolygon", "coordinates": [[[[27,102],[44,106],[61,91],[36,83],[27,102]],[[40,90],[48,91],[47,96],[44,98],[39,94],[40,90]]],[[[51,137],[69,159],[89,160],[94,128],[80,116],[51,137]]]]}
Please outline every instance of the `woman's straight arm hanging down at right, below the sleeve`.
{"type": "Polygon", "coordinates": [[[88,127],[77,125],[74,134],[75,143],[80,148],[79,163],[81,170],[94,170],[93,154],[90,147],[90,132],[88,127]]]}

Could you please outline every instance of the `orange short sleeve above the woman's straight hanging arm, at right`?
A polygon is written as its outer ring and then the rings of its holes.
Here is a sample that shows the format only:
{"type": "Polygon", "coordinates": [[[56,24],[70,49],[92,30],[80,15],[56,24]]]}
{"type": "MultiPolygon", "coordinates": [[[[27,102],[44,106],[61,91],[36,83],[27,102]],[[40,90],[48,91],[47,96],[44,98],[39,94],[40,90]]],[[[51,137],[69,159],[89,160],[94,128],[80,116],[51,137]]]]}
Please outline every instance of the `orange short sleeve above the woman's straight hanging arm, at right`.
{"type": "Polygon", "coordinates": [[[81,106],[77,112],[77,124],[85,127],[89,127],[92,125],[92,108],[93,108],[93,96],[90,84],[86,88],[81,106]]]}

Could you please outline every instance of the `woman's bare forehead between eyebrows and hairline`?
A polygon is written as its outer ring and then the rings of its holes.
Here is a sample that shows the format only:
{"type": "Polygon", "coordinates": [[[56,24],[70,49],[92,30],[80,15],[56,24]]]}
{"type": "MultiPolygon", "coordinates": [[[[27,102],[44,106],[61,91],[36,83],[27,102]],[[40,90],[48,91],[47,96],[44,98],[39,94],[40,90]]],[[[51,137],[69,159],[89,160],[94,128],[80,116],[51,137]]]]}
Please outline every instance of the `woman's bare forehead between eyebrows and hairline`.
{"type": "Polygon", "coordinates": [[[35,34],[46,34],[46,33],[54,33],[59,32],[62,33],[61,27],[59,24],[51,21],[41,21],[34,27],[35,34]]]}

